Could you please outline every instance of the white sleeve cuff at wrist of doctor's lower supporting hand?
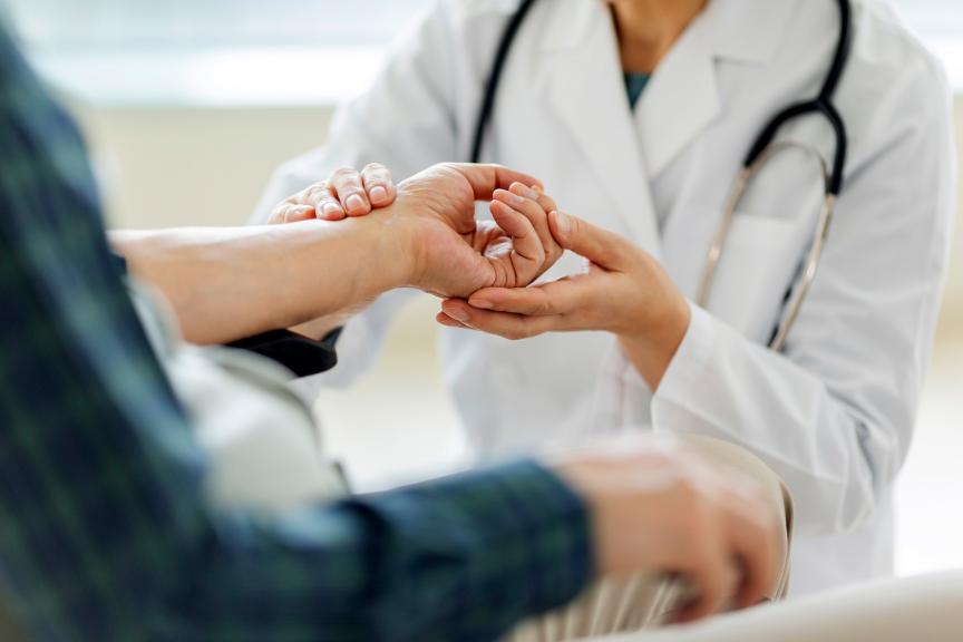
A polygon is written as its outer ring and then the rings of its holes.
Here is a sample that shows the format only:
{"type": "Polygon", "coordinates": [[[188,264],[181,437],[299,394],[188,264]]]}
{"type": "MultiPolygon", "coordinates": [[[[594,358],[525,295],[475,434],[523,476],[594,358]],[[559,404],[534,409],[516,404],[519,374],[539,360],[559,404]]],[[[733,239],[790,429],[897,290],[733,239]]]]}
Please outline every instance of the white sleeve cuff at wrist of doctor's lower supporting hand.
{"type": "Polygon", "coordinates": [[[716,344],[716,322],[706,310],[694,303],[690,302],[689,308],[692,311],[689,329],[662,377],[659,389],[653,396],[653,403],[673,401],[684,406],[693,390],[699,390],[699,380],[712,356],[716,344]]]}

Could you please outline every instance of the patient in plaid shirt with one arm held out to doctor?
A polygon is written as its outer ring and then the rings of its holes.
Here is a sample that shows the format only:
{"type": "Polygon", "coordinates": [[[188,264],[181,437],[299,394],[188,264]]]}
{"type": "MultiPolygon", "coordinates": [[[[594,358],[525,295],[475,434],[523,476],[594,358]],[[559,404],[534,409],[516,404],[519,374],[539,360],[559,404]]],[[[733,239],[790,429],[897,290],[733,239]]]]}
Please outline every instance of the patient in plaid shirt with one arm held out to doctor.
{"type": "Polygon", "coordinates": [[[281,369],[182,335],[338,318],[403,285],[526,284],[522,221],[474,222],[476,198],[515,182],[534,183],[442,166],[337,225],[119,235],[150,282],[126,289],[77,133],[0,32],[0,595],[22,634],[490,640],[594,577],[638,574],[691,582],[681,620],[758,603],[779,525],[751,479],[673,444],[340,500],[320,465],[276,504],[218,470],[218,445],[251,427],[310,436],[311,415],[281,369]]]}

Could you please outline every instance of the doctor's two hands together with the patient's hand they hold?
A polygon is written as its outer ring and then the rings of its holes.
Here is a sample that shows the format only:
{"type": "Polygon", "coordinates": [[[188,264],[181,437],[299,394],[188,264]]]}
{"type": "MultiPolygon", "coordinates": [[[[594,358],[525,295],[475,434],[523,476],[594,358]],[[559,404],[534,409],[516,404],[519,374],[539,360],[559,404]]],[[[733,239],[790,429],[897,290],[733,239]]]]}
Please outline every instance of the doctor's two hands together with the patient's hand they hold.
{"type": "MultiPolygon", "coordinates": [[[[563,214],[532,176],[493,165],[437,165],[395,184],[381,165],[339,169],[280,204],[271,223],[381,220],[400,242],[403,285],[445,299],[437,321],[512,340],[607,331],[656,389],[690,309],[661,265],[631,241],[563,214]],[[492,221],[477,221],[490,201],[492,221]],[[566,251],[580,274],[529,286],[566,251]]],[[[396,245],[397,246],[397,245],[396,245]]]]}

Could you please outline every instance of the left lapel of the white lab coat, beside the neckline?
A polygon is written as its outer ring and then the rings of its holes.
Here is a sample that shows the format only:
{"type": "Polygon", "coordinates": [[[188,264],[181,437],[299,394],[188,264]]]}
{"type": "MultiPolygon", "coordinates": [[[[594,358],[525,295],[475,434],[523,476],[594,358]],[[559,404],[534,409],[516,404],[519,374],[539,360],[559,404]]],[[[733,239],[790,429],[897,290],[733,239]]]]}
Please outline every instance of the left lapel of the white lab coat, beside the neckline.
{"type": "Polygon", "coordinates": [[[609,9],[585,0],[561,0],[556,9],[545,33],[549,108],[594,169],[585,179],[600,183],[635,242],[658,257],[661,249],[649,173],[609,9]],[[578,26],[574,33],[572,26],[578,26]]]}

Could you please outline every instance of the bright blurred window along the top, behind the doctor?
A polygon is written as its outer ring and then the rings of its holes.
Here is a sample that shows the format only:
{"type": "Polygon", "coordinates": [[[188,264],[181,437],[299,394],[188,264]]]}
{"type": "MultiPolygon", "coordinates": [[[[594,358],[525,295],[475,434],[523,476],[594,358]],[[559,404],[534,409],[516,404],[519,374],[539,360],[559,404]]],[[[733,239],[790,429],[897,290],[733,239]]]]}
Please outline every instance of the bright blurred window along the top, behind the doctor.
{"type": "MultiPolygon", "coordinates": [[[[68,93],[107,103],[286,105],[362,88],[391,38],[438,0],[6,1],[37,65],[68,93]]],[[[963,90],[963,2],[892,2],[963,90]]]]}

